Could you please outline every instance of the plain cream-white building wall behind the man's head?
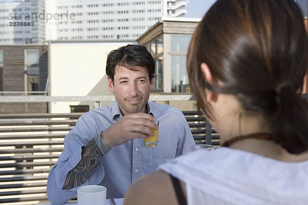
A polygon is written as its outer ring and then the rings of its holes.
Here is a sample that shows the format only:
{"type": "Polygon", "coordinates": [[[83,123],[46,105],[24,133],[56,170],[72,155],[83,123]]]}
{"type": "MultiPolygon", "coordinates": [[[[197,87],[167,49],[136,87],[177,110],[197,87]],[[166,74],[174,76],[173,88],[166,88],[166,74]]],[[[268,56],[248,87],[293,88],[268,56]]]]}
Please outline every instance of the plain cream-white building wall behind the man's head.
{"type": "MultiPolygon", "coordinates": [[[[55,40],[49,42],[48,76],[50,96],[113,95],[107,87],[107,54],[127,44],[128,40],[55,40]]],[[[107,103],[106,105],[109,105],[107,103]]],[[[102,104],[105,106],[105,104],[102,104]]],[[[49,112],[71,112],[74,106],[92,109],[93,102],[56,102],[49,112]]]]}

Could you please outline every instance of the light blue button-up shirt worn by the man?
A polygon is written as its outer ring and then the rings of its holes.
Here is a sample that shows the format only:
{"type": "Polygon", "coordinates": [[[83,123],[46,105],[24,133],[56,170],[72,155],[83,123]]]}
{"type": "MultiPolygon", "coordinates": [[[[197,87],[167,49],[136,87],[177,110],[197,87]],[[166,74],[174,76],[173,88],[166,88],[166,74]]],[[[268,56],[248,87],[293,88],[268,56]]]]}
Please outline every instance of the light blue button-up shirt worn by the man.
{"type": "MultiPolygon", "coordinates": [[[[107,188],[107,198],[123,198],[133,181],[156,171],[168,159],[191,151],[195,140],[183,113],[164,104],[148,102],[147,106],[148,114],[160,121],[158,145],[144,147],[143,139],[136,138],[112,147],[82,186],[103,185],[107,188]]],[[[64,150],[48,176],[47,194],[52,204],[63,204],[76,195],[79,187],[62,188],[68,172],[81,160],[82,147],[122,117],[114,101],[111,106],[93,109],[78,119],[65,136],[64,150]]]]}

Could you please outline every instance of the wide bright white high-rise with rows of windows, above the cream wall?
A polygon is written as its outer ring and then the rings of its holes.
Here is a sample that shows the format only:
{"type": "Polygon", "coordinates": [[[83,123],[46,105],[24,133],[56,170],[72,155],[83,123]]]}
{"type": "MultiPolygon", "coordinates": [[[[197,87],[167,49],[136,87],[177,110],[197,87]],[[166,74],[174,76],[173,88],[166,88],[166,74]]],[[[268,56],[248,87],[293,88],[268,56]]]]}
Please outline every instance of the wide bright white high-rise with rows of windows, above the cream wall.
{"type": "Polygon", "coordinates": [[[55,0],[47,39],[137,39],[163,16],[184,17],[188,0],[55,0]]]}

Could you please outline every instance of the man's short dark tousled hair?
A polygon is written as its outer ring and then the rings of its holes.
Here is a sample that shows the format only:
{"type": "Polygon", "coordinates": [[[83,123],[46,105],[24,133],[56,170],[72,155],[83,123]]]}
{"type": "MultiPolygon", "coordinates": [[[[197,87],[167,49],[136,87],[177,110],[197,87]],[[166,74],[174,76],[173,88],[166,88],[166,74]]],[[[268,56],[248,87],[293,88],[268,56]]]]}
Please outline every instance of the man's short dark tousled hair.
{"type": "Polygon", "coordinates": [[[122,46],[112,50],[107,56],[106,74],[114,80],[115,69],[123,66],[135,71],[135,66],[146,68],[149,79],[155,77],[155,60],[144,46],[130,45],[122,46]]]}

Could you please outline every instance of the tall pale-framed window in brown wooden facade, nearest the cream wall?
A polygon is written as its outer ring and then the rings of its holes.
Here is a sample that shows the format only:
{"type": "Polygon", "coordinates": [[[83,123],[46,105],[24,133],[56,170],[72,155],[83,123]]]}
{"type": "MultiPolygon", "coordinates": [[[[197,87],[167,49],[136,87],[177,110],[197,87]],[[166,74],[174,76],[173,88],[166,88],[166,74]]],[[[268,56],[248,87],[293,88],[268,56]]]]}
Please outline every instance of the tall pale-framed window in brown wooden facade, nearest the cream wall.
{"type": "Polygon", "coordinates": [[[40,52],[38,50],[25,50],[25,90],[38,91],[40,75],[40,52]]]}

